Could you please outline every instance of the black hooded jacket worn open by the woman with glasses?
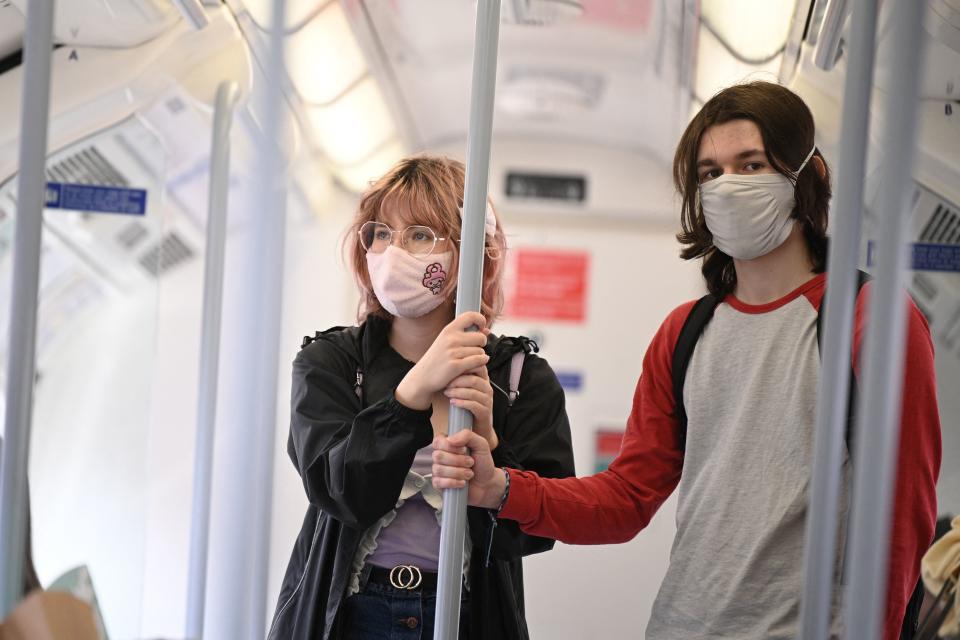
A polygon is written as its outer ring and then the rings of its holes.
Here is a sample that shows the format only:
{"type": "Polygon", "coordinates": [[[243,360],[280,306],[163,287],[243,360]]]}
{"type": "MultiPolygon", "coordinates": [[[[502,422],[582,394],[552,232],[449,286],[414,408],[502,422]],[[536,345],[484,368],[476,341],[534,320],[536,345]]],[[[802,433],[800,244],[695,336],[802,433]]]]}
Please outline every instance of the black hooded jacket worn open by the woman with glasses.
{"type": "MultiPolygon", "coordinates": [[[[417,449],[430,444],[431,411],[394,398],[413,366],[390,348],[389,323],[370,316],[359,327],[318,334],[293,363],[288,451],[310,506],[280,588],[270,640],[336,640],[338,612],[364,531],[394,508],[417,449]],[[356,393],[363,372],[362,401],[356,393]]],[[[529,349],[523,338],[490,336],[491,381],[508,388],[511,356],[529,349]]],[[[563,390],[545,360],[528,355],[512,408],[494,387],[498,466],[532,469],[544,477],[574,474],[563,390]]],[[[520,559],[553,541],[521,533],[515,522],[491,527],[489,512],[470,507],[471,640],[524,640],[520,559]],[[485,566],[489,535],[491,560],[485,566]]]]}

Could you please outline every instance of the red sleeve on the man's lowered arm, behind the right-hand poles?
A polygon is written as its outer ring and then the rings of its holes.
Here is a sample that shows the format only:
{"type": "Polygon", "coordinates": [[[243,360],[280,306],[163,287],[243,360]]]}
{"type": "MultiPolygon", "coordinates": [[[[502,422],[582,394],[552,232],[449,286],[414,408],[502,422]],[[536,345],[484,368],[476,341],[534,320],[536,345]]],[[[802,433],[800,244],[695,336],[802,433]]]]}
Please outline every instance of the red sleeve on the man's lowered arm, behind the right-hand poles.
{"type": "MultiPolygon", "coordinates": [[[[853,360],[858,378],[870,286],[864,287],[857,300],[853,360]]],[[[909,304],[900,450],[887,572],[885,640],[900,638],[903,614],[920,576],[920,559],[930,547],[937,520],[941,452],[933,341],[923,314],[912,301],[909,304]]]]}

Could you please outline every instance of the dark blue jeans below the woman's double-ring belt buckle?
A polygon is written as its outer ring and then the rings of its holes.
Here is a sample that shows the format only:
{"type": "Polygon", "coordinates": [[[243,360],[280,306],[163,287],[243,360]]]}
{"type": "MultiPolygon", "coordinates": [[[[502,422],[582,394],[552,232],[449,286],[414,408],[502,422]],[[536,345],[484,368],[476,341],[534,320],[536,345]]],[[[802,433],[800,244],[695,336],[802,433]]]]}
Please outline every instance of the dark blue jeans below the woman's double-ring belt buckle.
{"type": "MultiPolygon", "coordinates": [[[[369,583],[344,603],[346,640],[432,640],[436,593],[369,583]]],[[[460,640],[469,638],[470,608],[460,601],[460,640]]]]}

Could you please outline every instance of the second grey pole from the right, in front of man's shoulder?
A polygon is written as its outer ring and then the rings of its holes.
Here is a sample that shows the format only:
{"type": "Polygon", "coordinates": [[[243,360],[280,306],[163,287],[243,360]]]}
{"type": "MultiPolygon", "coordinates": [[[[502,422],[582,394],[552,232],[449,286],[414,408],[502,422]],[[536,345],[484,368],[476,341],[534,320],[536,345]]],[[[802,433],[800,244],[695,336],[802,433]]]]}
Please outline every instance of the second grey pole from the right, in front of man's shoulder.
{"type": "Polygon", "coordinates": [[[876,31],[877,0],[855,0],[843,96],[837,202],[833,208],[836,213],[827,260],[827,292],[821,303],[826,305],[826,317],[800,604],[800,638],[804,640],[829,635],[876,31]]]}

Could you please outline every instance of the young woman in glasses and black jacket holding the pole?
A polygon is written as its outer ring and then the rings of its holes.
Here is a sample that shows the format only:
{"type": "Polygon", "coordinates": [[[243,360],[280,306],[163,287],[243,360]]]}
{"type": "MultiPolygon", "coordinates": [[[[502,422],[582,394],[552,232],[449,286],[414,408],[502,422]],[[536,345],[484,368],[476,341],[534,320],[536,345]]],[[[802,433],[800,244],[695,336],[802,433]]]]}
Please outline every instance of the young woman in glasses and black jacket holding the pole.
{"type": "MultiPolygon", "coordinates": [[[[293,364],[288,449],[310,506],[270,638],[433,637],[442,501],[430,444],[449,405],[473,414],[499,464],[574,472],[556,376],[529,340],[488,328],[506,251],[490,207],[481,313],[454,318],[463,188],[461,163],[418,156],[360,201],[348,242],[362,322],[306,340],[293,364]]],[[[528,637],[520,559],[553,542],[496,515],[468,510],[461,638],[528,637]]]]}

